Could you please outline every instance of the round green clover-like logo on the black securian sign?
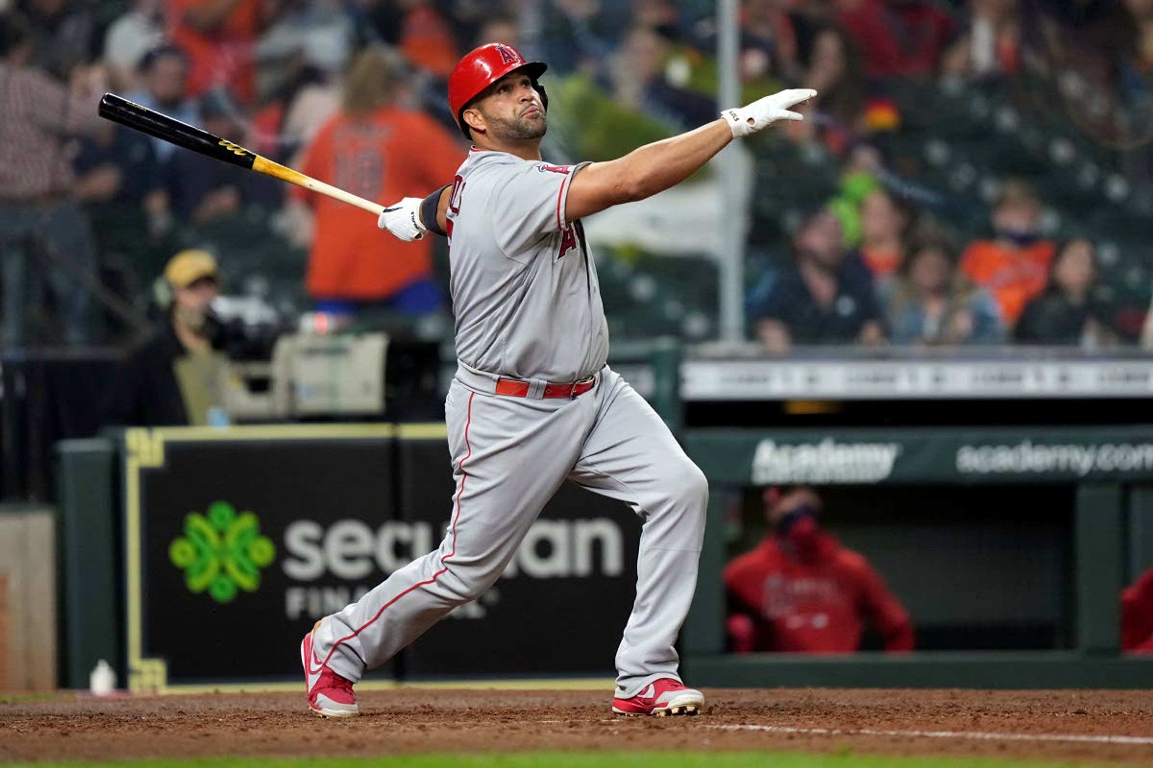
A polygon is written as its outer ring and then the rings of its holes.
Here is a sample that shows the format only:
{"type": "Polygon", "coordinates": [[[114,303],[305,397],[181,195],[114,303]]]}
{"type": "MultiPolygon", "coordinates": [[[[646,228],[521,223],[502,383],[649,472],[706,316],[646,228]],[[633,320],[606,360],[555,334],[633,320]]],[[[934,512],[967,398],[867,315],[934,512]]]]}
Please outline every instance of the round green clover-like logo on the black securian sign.
{"type": "Polygon", "coordinates": [[[188,591],[208,590],[217,602],[232,602],[236,590],[256,592],[261,569],[277,556],[272,540],[261,535],[261,522],[225,501],[209,507],[206,515],[189,512],[184,535],[168,545],[168,560],[184,571],[188,591]]]}

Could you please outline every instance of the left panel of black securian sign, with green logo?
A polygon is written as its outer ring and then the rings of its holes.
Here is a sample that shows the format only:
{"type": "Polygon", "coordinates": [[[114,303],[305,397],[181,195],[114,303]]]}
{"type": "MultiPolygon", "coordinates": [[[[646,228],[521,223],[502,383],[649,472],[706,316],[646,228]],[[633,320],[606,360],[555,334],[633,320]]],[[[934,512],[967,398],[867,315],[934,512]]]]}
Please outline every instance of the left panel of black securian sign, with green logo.
{"type": "MultiPolygon", "coordinates": [[[[391,425],[126,433],[129,685],[285,680],[394,518],[391,425]],[[360,529],[371,531],[361,537],[360,529]]],[[[407,560],[405,561],[407,562],[407,560]]]]}

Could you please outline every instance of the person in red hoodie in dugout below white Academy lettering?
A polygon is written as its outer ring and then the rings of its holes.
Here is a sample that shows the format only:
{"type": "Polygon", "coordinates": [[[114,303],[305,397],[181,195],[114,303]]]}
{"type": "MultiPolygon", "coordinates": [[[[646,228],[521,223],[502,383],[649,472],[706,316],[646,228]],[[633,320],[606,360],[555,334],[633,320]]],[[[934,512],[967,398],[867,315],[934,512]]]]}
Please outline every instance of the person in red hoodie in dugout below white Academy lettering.
{"type": "Polygon", "coordinates": [[[911,651],[909,614],[866,560],[817,525],[809,487],[769,487],[770,532],[725,567],[728,633],[734,653],[852,653],[866,622],[886,651],[911,651]]]}

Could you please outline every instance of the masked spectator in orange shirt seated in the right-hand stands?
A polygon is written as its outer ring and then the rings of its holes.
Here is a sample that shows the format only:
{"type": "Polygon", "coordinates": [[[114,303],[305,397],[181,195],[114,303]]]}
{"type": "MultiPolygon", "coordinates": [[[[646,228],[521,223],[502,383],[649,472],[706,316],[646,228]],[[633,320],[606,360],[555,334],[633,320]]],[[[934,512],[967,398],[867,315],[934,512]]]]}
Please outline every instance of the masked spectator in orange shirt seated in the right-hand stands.
{"type": "Polygon", "coordinates": [[[1045,290],[1054,244],[1040,236],[1041,203],[1023,181],[1007,181],[993,208],[994,239],[972,243],[960,260],[969,279],[996,299],[1005,327],[1045,290]]]}

